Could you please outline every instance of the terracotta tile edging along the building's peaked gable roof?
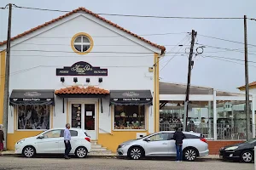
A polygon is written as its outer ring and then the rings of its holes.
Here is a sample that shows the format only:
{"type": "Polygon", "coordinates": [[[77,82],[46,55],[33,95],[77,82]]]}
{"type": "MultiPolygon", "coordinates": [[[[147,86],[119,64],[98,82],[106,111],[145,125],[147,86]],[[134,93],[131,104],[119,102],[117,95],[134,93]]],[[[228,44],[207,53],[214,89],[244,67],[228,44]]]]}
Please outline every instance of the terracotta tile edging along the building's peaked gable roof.
{"type": "MultiPolygon", "coordinates": [[[[123,27],[121,27],[121,26],[118,26],[117,24],[114,24],[114,23],[111,22],[110,20],[106,20],[106,19],[103,18],[102,16],[100,16],[100,15],[98,15],[98,14],[95,14],[95,13],[91,12],[90,10],[88,10],[88,9],[86,9],[86,8],[83,8],[83,7],[74,9],[72,12],[69,12],[69,13],[67,13],[67,14],[61,15],[60,17],[58,17],[58,18],[56,18],[56,19],[54,19],[54,20],[50,20],[49,22],[45,22],[43,25],[37,26],[37,27],[35,27],[35,28],[32,28],[32,29],[29,30],[29,31],[25,31],[25,32],[23,32],[23,33],[21,33],[21,34],[15,36],[15,37],[12,37],[12,38],[11,38],[11,41],[13,41],[13,40],[15,40],[15,39],[18,39],[19,37],[26,36],[27,34],[33,32],[33,31],[37,31],[38,29],[40,29],[40,28],[42,28],[42,27],[44,27],[44,26],[48,26],[49,24],[52,24],[52,23],[54,23],[55,21],[61,20],[61,19],[65,18],[65,17],[67,17],[67,16],[69,16],[69,15],[71,15],[71,14],[77,13],[77,12],[79,12],[79,11],[84,11],[84,12],[87,13],[87,14],[91,14],[91,15],[95,16],[96,18],[107,22],[108,24],[110,24],[110,25],[112,25],[112,26],[114,26],[114,27],[116,27],[116,28],[119,28],[119,29],[122,30],[122,31],[125,31],[125,32],[131,34],[131,35],[134,36],[134,37],[137,37],[137,38],[141,39],[143,42],[148,42],[150,45],[152,45],[152,46],[154,46],[154,47],[156,47],[156,48],[160,48],[161,51],[162,51],[162,53],[164,53],[164,52],[166,51],[166,48],[165,48],[164,46],[160,46],[160,45],[158,45],[158,44],[156,44],[156,43],[154,43],[154,42],[150,42],[150,41],[146,40],[145,38],[140,37],[140,36],[138,36],[137,34],[134,34],[134,33],[132,33],[131,31],[128,31],[128,30],[126,30],[125,28],[123,28],[123,27]]],[[[2,46],[2,45],[5,44],[5,43],[6,43],[6,41],[0,42],[0,46],[2,46]]]]}

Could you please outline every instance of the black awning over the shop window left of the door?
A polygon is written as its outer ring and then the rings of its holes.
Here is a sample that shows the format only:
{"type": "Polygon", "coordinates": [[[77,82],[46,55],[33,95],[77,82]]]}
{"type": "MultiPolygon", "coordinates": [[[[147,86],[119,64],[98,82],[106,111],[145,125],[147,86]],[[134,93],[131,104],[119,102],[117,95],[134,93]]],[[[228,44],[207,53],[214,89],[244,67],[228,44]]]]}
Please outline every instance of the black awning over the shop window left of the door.
{"type": "Polygon", "coordinates": [[[55,90],[13,90],[9,105],[54,105],[55,90]]]}

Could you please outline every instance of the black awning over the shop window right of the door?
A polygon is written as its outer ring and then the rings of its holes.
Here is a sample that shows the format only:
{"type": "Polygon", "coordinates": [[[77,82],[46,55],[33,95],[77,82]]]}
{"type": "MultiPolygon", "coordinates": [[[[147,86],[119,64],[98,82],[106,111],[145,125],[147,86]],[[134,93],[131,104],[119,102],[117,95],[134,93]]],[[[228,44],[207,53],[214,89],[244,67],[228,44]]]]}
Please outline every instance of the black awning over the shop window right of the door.
{"type": "Polygon", "coordinates": [[[110,90],[111,105],[152,105],[150,90],[110,90]]]}

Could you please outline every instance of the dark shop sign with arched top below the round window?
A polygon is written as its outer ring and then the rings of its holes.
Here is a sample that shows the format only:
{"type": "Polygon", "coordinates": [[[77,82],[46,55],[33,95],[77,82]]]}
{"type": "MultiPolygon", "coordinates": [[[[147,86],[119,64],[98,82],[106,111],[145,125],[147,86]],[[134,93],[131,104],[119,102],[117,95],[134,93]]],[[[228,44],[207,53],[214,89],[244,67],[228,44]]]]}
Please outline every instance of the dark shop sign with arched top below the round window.
{"type": "Polygon", "coordinates": [[[87,62],[79,61],[70,67],[56,69],[56,76],[108,76],[108,69],[93,67],[87,62]]]}

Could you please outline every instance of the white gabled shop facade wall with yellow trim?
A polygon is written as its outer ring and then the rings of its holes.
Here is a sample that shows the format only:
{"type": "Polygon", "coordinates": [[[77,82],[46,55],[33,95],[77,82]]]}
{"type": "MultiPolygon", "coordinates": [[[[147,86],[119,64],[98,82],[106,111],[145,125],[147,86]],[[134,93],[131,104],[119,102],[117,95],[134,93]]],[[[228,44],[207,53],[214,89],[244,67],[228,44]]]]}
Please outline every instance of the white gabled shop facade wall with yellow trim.
{"type": "MultiPolygon", "coordinates": [[[[77,85],[85,87],[90,85],[108,90],[149,89],[152,93],[159,89],[159,66],[155,66],[154,73],[148,72],[148,67],[154,65],[154,52],[93,20],[86,19],[82,14],[71,19],[70,17],[67,22],[52,27],[49,31],[44,31],[36,37],[17,45],[13,44],[10,73],[14,74],[9,80],[9,94],[13,89],[60,89],[75,85],[73,77],[65,77],[65,82],[61,83],[60,77],[56,77],[55,74],[56,68],[71,66],[78,61],[108,68],[108,77],[103,77],[103,82],[99,83],[98,77],[77,76],[79,81],[76,83],[77,85]],[[93,38],[94,46],[89,54],[73,53],[70,46],[71,38],[79,32],[85,32],[93,38]],[[89,84],[85,84],[86,78],[90,78],[89,84]],[[154,80],[157,84],[154,84],[154,80]]],[[[155,127],[158,126],[159,121],[156,120],[159,117],[157,116],[159,98],[158,93],[155,94],[154,106],[149,107],[146,113],[148,128],[138,133],[154,133],[155,127]],[[157,123],[154,125],[154,122],[157,123]]],[[[66,122],[70,122],[69,101],[70,99],[65,99],[63,113],[62,99],[55,97],[55,107],[50,113],[51,127],[64,127],[66,122]]],[[[137,132],[113,131],[113,116],[109,114],[109,99],[102,99],[102,105],[103,112],[98,109],[99,119],[96,120],[99,123],[98,143],[114,151],[117,143],[136,138],[137,132]]],[[[13,112],[9,111],[8,149],[14,149],[14,144],[19,139],[41,132],[17,130],[15,127],[16,115],[13,112]]]]}

